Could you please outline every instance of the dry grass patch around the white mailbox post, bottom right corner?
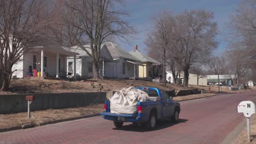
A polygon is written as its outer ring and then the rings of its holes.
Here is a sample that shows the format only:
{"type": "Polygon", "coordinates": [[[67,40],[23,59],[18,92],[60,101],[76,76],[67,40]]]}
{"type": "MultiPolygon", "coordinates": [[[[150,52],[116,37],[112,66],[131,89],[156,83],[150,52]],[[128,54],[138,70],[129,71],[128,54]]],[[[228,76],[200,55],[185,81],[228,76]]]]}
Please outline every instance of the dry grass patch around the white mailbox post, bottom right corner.
{"type": "Polygon", "coordinates": [[[252,115],[250,118],[251,123],[251,142],[247,140],[247,129],[243,128],[240,135],[232,142],[232,144],[245,144],[245,143],[256,143],[256,115],[252,115]]]}

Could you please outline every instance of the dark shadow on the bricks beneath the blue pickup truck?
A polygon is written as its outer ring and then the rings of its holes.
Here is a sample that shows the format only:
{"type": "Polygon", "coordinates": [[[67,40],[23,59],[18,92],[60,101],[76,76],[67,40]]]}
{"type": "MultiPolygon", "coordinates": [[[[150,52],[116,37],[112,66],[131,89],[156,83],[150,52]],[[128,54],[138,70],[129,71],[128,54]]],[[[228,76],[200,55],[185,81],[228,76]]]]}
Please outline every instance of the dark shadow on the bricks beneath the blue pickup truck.
{"type": "Polygon", "coordinates": [[[170,119],[162,119],[159,120],[156,123],[156,127],[153,130],[147,130],[145,128],[143,128],[142,126],[138,126],[136,124],[128,124],[128,125],[123,125],[123,127],[121,128],[113,128],[114,130],[125,130],[125,131],[136,131],[136,132],[141,132],[141,133],[145,133],[148,131],[155,131],[155,130],[160,130],[160,129],[165,129],[168,127],[172,127],[173,125],[177,125],[180,123],[186,123],[188,121],[188,119],[179,119],[178,123],[172,123],[170,119]]]}

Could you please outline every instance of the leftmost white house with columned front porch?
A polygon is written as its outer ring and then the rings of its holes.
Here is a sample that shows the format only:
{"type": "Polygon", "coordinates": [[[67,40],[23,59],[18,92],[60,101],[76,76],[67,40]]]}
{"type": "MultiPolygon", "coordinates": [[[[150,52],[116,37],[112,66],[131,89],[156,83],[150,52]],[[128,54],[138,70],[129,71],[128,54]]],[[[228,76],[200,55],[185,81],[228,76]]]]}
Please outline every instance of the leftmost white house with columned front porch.
{"type": "Polygon", "coordinates": [[[78,55],[78,53],[65,49],[66,47],[56,44],[33,47],[13,65],[12,70],[15,70],[13,77],[35,76],[33,75],[34,70],[40,71],[41,77],[65,77],[66,73],[62,73],[62,71],[66,71],[67,57],[78,55]]]}

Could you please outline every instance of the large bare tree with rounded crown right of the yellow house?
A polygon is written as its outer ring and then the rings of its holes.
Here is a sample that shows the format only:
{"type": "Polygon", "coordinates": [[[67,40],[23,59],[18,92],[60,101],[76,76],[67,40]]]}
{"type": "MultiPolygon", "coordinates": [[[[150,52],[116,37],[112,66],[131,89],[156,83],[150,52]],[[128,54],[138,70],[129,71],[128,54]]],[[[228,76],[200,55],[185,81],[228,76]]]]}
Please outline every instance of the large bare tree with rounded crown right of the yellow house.
{"type": "MultiPolygon", "coordinates": [[[[217,23],[213,13],[206,10],[185,10],[178,15],[162,14],[154,19],[147,38],[148,46],[167,49],[184,71],[184,86],[188,86],[190,65],[211,55],[217,46],[217,23]]],[[[146,44],[147,44],[146,43],[146,44]]],[[[165,59],[165,56],[163,57],[165,59]]]]}

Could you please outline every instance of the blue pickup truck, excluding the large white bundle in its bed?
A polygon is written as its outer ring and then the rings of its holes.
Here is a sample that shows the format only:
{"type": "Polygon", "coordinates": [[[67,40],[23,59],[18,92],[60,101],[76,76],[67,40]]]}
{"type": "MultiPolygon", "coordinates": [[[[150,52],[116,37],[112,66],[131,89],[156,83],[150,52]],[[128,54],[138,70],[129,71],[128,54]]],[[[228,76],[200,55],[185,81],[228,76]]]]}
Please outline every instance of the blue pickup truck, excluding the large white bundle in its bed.
{"type": "Polygon", "coordinates": [[[110,113],[110,101],[106,100],[104,112],[100,113],[104,119],[114,121],[117,128],[123,126],[124,122],[132,122],[143,125],[147,129],[154,129],[157,119],[171,118],[176,123],[181,112],[181,105],[172,100],[172,97],[158,88],[152,87],[136,87],[149,95],[149,101],[138,102],[138,113],[135,114],[115,114],[110,113]]]}

